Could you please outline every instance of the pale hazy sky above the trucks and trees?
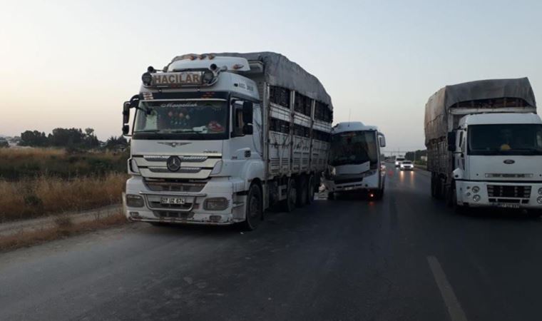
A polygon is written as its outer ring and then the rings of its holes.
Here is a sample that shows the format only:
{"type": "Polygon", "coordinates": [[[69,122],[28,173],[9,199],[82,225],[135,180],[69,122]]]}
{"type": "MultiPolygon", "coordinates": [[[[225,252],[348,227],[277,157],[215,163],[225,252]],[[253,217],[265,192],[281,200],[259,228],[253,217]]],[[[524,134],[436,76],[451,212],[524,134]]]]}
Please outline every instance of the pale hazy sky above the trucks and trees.
{"type": "Polygon", "coordinates": [[[275,51],[322,81],[334,121],[424,148],[436,90],[528,76],[542,99],[542,1],[2,1],[0,134],[121,134],[147,66],[173,56],[275,51]]]}

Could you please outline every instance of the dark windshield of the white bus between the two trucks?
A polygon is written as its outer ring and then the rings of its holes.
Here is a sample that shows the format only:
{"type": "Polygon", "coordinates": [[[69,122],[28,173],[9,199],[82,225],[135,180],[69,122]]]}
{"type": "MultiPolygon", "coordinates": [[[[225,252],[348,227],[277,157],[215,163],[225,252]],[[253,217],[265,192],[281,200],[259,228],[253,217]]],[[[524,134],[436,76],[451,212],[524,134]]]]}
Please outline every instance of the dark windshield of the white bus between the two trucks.
{"type": "Polygon", "coordinates": [[[336,133],[331,141],[331,165],[378,162],[377,135],[374,131],[336,133]]]}

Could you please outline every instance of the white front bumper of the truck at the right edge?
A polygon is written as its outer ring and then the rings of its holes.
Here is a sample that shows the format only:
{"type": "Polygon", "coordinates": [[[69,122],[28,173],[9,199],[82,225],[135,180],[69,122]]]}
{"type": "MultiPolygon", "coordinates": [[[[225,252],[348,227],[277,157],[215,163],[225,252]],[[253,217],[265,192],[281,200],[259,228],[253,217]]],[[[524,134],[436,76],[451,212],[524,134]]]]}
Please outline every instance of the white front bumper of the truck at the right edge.
{"type": "Polygon", "coordinates": [[[542,195],[538,190],[542,183],[502,183],[469,180],[456,181],[458,205],[469,207],[542,209],[542,195]],[[478,187],[479,190],[476,190],[478,187]],[[474,188],[474,190],[473,190],[474,188]]]}

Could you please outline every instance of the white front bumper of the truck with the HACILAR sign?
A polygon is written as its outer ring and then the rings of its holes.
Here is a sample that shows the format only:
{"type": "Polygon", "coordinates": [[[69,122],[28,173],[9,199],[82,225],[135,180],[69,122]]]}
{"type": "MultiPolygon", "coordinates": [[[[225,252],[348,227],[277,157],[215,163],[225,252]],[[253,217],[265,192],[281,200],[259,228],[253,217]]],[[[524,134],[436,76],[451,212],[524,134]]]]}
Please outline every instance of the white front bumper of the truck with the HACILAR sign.
{"type": "Polygon", "coordinates": [[[131,206],[125,199],[125,215],[128,220],[149,223],[231,225],[242,222],[246,196],[234,193],[234,184],[232,180],[218,179],[209,180],[198,193],[157,192],[150,190],[141,176],[133,176],[126,182],[126,195],[138,195],[143,206],[131,206]],[[163,197],[182,198],[185,204],[162,205],[163,197]],[[227,200],[227,208],[205,210],[205,200],[210,198],[227,200]]]}

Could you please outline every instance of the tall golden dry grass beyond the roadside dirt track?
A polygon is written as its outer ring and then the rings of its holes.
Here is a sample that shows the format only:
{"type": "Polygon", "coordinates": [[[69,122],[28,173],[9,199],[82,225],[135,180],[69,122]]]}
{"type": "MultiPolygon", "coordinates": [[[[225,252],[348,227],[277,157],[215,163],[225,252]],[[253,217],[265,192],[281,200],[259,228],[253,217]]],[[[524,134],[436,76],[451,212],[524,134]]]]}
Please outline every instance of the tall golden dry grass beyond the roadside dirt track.
{"type": "Polygon", "coordinates": [[[0,222],[121,203],[127,178],[127,174],[108,173],[70,180],[45,175],[0,180],[0,222]]]}

